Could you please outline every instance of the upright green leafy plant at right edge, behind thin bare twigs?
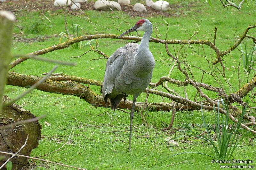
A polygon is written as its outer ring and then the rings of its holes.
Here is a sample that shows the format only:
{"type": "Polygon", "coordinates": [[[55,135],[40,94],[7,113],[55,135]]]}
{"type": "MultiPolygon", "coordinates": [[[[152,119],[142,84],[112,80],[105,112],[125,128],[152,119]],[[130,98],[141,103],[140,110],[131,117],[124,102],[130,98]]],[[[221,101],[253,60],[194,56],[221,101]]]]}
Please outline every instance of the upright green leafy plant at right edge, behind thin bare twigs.
{"type": "Polygon", "coordinates": [[[240,47],[241,47],[241,53],[242,53],[242,57],[243,57],[243,63],[244,63],[244,70],[249,73],[255,62],[256,62],[256,46],[255,44],[252,46],[252,48],[250,49],[250,51],[248,50],[248,47],[247,47],[247,42],[244,43],[243,41],[243,44],[244,44],[244,50],[242,48],[242,45],[240,43],[240,47]]]}

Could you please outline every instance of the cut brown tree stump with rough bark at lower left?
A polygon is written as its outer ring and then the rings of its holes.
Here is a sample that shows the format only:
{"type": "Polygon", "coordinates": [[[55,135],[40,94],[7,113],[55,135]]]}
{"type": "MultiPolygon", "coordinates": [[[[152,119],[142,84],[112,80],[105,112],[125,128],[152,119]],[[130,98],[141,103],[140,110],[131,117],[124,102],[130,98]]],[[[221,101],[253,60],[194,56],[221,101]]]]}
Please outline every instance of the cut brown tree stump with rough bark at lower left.
{"type": "MultiPolygon", "coordinates": [[[[3,103],[10,100],[9,97],[3,97],[3,103]]],[[[12,103],[10,106],[4,107],[0,113],[0,126],[4,126],[17,121],[24,121],[35,118],[28,110],[22,109],[19,105],[12,103]]],[[[21,155],[30,156],[32,149],[38,146],[38,140],[41,139],[42,126],[38,121],[16,125],[12,128],[0,130],[0,151],[16,153],[25,143],[27,135],[27,145],[19,152],[21,155]]],[[[0,154],[5,158],[0,161],[0,166],[11,157],[11,155],[0,154]]],[[[23,157],[14,157],[11,159],[12,169],[20,169],[28,164],[28,159],[23,157]]]]}

